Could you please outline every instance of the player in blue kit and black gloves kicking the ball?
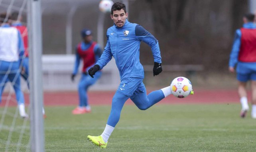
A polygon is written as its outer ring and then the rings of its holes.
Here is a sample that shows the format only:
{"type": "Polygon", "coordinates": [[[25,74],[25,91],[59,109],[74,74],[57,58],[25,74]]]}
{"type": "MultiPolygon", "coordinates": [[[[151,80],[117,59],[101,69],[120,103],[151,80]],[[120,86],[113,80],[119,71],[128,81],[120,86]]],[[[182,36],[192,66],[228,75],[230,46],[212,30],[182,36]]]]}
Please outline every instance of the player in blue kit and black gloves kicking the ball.
{"type": "Polygon", "coordinates": [[[114,57],[121,80],[112,99],[111,112],[103,133],[100,136],[87,136],[89,141],[100,148],[106,148],[108,138],[118,123],[122,107],[128,98],[139,109],[146,110],[171,94],[168,86],[147,95],[142,82],[144,69],[140,63],[140,42],[143,41],[151,47],[154,57],[153,74],[156,76],[162,72],[158,40],[142,26],[130,23],[126,19],[128,17],[126,7],[120,2],[113,4],[110,17],[114,25],[107,30],[106,47],[95,66],[88,71],[93,77],[114,57]]]}

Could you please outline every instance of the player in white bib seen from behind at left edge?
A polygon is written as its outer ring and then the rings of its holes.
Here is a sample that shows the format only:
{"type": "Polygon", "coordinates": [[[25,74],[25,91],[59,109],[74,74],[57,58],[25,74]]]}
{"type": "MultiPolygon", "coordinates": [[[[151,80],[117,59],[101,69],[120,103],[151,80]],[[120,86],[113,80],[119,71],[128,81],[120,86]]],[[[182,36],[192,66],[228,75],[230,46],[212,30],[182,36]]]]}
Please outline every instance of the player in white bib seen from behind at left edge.
{"type": "Polygon", "coordinates": [[[24,95],[20,88],[20,63],[24,54],[24,46],[20,32],[10,27],[6,13],[0,14],[0,101],[7,80],[12,82],[20,116],[27,118],[24,95]]]}

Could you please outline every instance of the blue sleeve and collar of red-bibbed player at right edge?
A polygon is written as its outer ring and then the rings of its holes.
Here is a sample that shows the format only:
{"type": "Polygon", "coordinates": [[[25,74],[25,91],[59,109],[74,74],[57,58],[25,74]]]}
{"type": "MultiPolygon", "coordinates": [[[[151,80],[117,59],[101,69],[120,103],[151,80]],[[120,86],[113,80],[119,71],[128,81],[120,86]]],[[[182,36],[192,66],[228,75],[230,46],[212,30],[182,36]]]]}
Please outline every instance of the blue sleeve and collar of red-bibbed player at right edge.
{"type": "MultiPolygon", "coordinates": [[[[256,29],[256,24],[252,22],[248,22],[248,23],[245,23],[243,27],[246,29],[256,29]]],[[[239,55],[240,46],[241,46],[241,37],[242,37],[241,30],[236,29],[232,51],[230,53],[230,59],[229,59],[230,67],[234,67],[238,62],[238,55],[239,55]]]]}

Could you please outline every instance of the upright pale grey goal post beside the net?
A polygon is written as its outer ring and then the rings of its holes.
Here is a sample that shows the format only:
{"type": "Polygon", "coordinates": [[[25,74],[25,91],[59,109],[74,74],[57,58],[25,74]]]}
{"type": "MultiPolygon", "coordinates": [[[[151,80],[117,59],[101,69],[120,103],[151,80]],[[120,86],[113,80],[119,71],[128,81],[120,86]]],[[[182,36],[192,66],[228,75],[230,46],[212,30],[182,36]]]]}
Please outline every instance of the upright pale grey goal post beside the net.
{"type": "Polygon", "coordinates": [[[30,145],[44,152],[41,0],[28,0],[30,72],[30,145]]]}

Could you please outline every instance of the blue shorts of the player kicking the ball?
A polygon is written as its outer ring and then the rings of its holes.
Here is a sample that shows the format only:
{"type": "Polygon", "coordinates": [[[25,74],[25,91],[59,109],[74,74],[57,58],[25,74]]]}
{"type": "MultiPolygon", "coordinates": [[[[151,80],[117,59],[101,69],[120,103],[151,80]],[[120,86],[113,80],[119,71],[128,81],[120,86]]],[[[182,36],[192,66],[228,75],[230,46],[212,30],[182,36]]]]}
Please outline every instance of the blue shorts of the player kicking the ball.
{"type": "Polygon", "coordinates": [[[142,78],[124,78],[116,91],[131,97],[136,92],[146,92],[146,88],[142,78]]]}

